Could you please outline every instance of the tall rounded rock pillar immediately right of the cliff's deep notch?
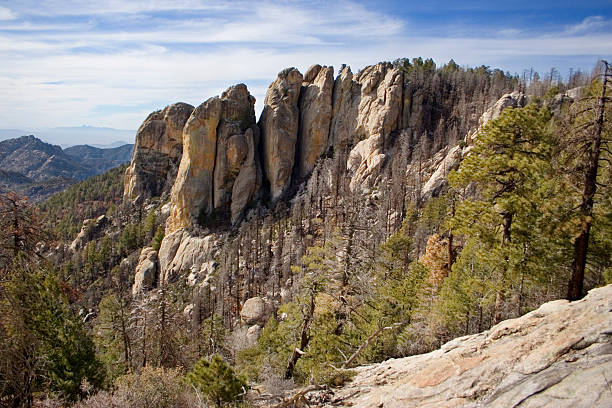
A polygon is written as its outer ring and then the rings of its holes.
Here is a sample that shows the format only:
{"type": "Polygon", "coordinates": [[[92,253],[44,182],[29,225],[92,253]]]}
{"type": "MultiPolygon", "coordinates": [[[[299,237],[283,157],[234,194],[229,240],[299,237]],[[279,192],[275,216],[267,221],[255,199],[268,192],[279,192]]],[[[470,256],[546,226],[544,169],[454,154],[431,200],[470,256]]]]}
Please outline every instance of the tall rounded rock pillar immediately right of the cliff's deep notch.
{"type": "Polygon", "coordinates": [[[266,93],[259,119],[262,137],[263,170],[270,183],[272,200],[278,199],[291,182],[298,136],[298,97],[302,74],[287,68],[266,93]]]}

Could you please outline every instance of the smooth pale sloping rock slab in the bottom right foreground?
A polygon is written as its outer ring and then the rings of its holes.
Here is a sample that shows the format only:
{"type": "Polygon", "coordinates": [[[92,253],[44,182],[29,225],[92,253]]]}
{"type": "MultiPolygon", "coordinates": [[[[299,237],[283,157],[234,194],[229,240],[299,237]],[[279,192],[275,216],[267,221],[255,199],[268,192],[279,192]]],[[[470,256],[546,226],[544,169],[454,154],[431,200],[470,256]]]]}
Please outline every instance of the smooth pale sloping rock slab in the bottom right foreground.
{"type": "Polygon", "coordinates": [[[610,407],[612,285],[356,371],[326,406],[610,407]]]}

